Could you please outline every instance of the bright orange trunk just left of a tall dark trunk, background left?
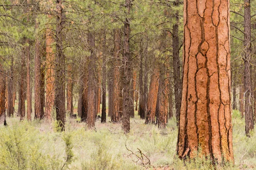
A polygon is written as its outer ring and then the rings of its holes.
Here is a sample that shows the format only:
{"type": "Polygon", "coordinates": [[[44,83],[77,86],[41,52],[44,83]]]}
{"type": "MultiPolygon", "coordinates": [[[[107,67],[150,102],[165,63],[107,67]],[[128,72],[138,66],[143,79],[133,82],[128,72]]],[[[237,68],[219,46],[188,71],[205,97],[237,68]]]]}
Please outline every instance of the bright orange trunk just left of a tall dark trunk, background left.
{"type": "MultiPolygon", "coordinates": [[[[51,16],[48,15],[50,19],[51,16]]],[[[45,115],[48,121],[52,120],[52,108],[55,100],[55,74],[54,61],[55,54],[53,53],[52,45],[54,44],[53,33],[51,28],[46,28],[46,102],[45,115]]]]}

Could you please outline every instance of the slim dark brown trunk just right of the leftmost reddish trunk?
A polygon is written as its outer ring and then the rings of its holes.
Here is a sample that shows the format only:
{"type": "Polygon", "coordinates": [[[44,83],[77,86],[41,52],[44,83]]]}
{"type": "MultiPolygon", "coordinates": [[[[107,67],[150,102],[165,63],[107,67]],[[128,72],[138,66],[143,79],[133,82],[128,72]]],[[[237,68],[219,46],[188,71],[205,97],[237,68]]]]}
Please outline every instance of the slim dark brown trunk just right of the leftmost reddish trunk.
{"type": "MultiPolygon", "coordinates": [[[[11,68],[10,68],[10,77],[8,78],[8,108],[7,108],[7,116],[8,117],[13,117],[13,112],[14,112],[14,105],[13,105],[13,64],[14,64],[14,59],[12,57],[11,59],[11,68]]],[[[15,91],[16,93],[16,91],[15,91]]]]}

